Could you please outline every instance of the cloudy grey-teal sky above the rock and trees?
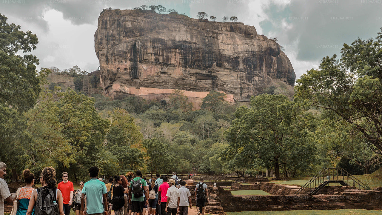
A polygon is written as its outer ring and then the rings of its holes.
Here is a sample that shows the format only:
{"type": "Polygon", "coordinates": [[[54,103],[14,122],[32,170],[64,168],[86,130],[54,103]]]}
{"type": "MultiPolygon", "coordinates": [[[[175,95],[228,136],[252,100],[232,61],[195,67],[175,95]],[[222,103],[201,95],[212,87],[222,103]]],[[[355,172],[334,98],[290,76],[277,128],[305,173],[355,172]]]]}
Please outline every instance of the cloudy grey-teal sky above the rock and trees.
{"type": "Polygon", "coordinates": [[[216,21],[236,16],[257,34],[278,38],[296,78],[317,69],[322,57],[340,58],[344,43],[375,38],[382,27],[382,0],[0,0],[0,13],[37,35],[38,68],[78,65],[92,72],[99,66],[94,33],[100,11],[140,5],[163,5],[191,18],[204,11],[216,21]]]}

